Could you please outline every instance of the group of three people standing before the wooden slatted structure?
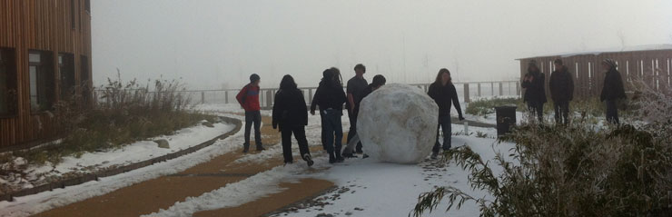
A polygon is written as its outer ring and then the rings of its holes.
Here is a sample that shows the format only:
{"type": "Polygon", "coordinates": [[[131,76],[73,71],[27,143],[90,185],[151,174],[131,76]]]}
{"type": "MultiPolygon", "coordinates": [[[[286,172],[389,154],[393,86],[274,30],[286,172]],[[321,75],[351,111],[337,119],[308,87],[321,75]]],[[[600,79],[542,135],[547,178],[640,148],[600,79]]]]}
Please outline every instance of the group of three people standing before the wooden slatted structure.
{"type": "MultiPolygon", "coordinates": [[[[574,98],[574,79],[561,59],[556,59],[553,64],[555,71],[550,74],[548,90],[550,91],[550,98],[553,100],[555,120],[556,123],[568,124],[569,102],[574,98]]],[[[606,103],[607,121],[619,124],[618,100],[626,98],[623,80],[618,73],[618,65],[614,60],[603,60],[602,69],[606,72],[606,75],[599,99],[606,103]]],[[[520,85],[525,89],[523,101],[528,104],[530,113],[537,115],[539,122],[543,122],[544,104],[547,103],[545,84],[546,76],[540,72],[537,62],[530,61],[528,73],[525,74],[520,85]]]]}

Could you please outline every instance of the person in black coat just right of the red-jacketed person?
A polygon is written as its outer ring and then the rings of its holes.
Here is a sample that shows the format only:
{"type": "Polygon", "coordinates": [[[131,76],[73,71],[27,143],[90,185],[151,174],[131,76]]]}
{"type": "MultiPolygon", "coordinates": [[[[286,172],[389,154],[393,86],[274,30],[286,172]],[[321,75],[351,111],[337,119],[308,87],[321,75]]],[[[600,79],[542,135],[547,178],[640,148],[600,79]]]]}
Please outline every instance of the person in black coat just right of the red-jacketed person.
{"type": "Polygon", "coordinates": [[[308,109],[303,93],[294,83],[292,75],[284,75],[280,83],[280,90],[275,94],[273,104],[273,129],[280,128],[282,133],[282,156],[284,163],[293,163],[292,157],[292,133],[299,143],[301,158],[312,165],[308,141],[306,140],[305,126],[308,125],[308,109]]]}

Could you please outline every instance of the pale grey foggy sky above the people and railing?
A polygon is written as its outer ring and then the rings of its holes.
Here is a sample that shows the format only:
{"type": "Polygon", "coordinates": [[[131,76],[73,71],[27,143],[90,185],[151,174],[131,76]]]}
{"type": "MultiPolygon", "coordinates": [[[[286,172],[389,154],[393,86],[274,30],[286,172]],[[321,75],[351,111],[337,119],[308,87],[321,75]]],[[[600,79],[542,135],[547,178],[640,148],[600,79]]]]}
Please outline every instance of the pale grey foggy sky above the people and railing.
{"type": "Polygon", "coordinates": [[[316,86],[365,64],[371,82],[513,80],[516,58],[672,44],[672,1],[93,0],[94,84],[116,76],[240,88],[250,74],[316,86]]]}

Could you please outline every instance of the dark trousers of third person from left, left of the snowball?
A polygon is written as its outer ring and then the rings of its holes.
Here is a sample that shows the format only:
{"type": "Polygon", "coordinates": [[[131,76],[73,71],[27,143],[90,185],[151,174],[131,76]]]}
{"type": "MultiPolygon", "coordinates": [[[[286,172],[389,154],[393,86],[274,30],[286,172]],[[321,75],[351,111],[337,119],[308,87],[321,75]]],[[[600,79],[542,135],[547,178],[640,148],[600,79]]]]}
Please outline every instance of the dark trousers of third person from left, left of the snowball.
{"type": "Polygon", "coordinates": [[[322,133],[324,142],[322,145],[327,153],[340,155],[343,140],[343,126],[341,125],[341,111],[328,109],[322,114],[322,133]]]}

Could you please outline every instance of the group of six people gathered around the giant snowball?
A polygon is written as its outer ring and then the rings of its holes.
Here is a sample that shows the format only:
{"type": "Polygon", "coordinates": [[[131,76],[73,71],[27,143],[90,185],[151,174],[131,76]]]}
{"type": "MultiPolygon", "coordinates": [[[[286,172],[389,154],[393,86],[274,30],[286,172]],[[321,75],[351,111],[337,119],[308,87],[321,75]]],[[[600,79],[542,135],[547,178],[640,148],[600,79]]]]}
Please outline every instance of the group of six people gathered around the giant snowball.
{"type": "MultiPolygon", "coordinates": [[[[329,163],[342,163],[345,158],[356,158],[363,153],[362,144],[357,136],[357,117],[360,114],[361,101],[369,94],[385,85],[385,76],[377,74],[371,84],[364,78],[366,67],[357,64],[354,67],[355,76],[352,77],[343,91],[341,71],[331,67],[322,72],[322,78],[310,105],[310,113],[315,115],[316,110],[321,116],[321,143],[323,149],[329,154],[329,163]],[[341,116],[343,105],[350,119],[350,132],[348,133],[348,145],[342,147],[343,128],[341,116]]],[[[252,74],[250,84],[245,85],[241,92],[236,95],[238,103],[245,110],[245,133],[243,153],[250,150],[250,133],[254,126],[254,139],[256,150],[264,150],[260,133],[261,113],[259,104],[260,76],[252,74]]],[[[451,82],[450,71],[440,69],[436,80],[430,85],[429,96],[439,105],[439,127],[437,128],[436,143],[432,149],[432,158],[436,158],[440,149],[450,149],[450,108],[451,104],[459,113],[460,120],[464,120],[460,108],[460,100],[451,82]],[[440,129],[443,131],[443,144],[440,143],[440,129]]],[[[308,148],[305,126],[308,125],[308,108],[303,93],[297,87],[292,75],[282,77],[280,88],[275,94],[272,110],[272,127],[278,129],[282,135],[282,156],[284,163],[293,163],[292,134],[299,144],[301,159],[311,166],[314,162],[308,148]]]]}

